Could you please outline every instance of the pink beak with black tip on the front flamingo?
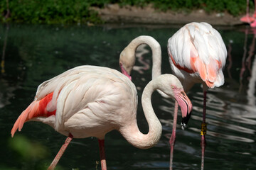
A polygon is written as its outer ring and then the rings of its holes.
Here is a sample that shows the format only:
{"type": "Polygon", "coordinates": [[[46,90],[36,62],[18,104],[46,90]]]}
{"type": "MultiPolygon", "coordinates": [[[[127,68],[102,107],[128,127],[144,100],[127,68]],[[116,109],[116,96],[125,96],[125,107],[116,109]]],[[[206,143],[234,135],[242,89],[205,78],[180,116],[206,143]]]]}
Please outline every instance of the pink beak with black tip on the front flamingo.
{"type": "Polygon", "coordinates": [[[191,111],[192,111],[192,103],[189,100],[188,96],[186,96],[186,93],[182,90],[178,93],[175,93],[176,101],[178,102],[178,105],[181,107],[181,113],[182,113],[182,121],[181,126],[182,129],[186,128],[186,125],[188,124],[188,120],[191,117],[191,111]]]}

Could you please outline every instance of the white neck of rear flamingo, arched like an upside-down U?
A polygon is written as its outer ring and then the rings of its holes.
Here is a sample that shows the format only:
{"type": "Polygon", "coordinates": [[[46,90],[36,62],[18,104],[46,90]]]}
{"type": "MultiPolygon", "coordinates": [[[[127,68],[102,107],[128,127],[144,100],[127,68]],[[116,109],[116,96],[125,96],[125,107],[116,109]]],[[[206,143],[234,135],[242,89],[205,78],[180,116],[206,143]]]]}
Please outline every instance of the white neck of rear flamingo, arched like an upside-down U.
{"type": "MultiPolygon", "coordinates": [[[[154,38],[146,35],[139,36],[130,42],[129,47],[135,53],[139,45],[149,45],[152,51],[152,79],[161,75],[161,46],[154,38]]],[[[135,55],[134,55],[135,57],[135,55]]]]}

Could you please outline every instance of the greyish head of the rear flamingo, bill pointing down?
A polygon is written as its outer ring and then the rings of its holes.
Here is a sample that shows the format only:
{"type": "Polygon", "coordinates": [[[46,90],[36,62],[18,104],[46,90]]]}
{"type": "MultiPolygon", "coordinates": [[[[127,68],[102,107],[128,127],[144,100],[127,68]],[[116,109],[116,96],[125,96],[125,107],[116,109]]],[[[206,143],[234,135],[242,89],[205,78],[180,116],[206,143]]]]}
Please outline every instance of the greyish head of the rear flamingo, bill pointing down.
{"type": "Polygon", "coordinates": [[[125,47],[121,52],[119,57],[119,66],[121,68],[122,74],[132,80],[131,72],[135,64],[135,54],[132,52],[132,50],[129,49],[129,47],[125,47]]]}

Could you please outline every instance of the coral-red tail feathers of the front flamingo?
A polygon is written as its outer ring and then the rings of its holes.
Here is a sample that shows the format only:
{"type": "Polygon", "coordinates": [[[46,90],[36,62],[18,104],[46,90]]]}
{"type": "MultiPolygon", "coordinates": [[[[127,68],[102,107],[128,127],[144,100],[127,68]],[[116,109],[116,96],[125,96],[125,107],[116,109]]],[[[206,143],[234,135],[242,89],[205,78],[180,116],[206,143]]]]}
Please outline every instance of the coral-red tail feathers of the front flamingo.
{"type": "Polygon", "coordinates": [[[20,116],[18,116],[18,119],[14,123],[14,127],[11,129],[11,137],[14,137],[14,133],[18,129],[18,131],[21,131],[23,128],[24,123],[27,120],[31,120],[32,118],[36,117],[48,117],[50,115],[55,115],[55,111],[48,112],[46,109],[47,104],[51,101],[53,98],[53,93],[48,94],[44,98],[41,99],[41,101],[33,101],[28,108],[26,108],[25,111],[21,113],[20,116]]]}

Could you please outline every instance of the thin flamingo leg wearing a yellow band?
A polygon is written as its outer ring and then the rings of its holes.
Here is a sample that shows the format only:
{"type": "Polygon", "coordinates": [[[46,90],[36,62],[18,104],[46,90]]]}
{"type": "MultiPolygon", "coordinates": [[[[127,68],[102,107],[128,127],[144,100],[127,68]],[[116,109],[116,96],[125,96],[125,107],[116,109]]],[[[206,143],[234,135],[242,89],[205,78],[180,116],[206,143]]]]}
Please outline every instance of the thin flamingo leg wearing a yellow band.
{"type": "Polygon", "coordinates": [[[201,159],[201,170],[203,170],[204,166],[204,157],[205,157],[205,149],[206,149],[206,91],[203,91],[203,122],[201,125],[201,148],[202,148],[202,159],[201,159]]]}

